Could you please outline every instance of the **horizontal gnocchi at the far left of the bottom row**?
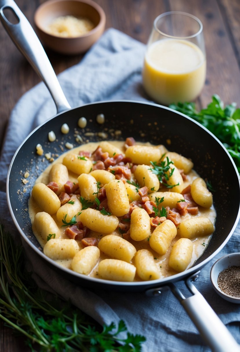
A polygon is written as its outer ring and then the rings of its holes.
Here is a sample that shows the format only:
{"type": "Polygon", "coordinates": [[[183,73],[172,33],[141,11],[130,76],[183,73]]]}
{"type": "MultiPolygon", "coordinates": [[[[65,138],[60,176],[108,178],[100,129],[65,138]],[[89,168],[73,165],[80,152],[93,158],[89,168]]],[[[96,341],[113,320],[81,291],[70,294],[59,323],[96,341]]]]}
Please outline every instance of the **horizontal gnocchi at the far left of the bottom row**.
{"type": "Polygon", "coordinates": [[[67,238],[51,238],[44,246],[43,253],[52,260],[72,259],[79,251],[77,241],[67,238]]]}

